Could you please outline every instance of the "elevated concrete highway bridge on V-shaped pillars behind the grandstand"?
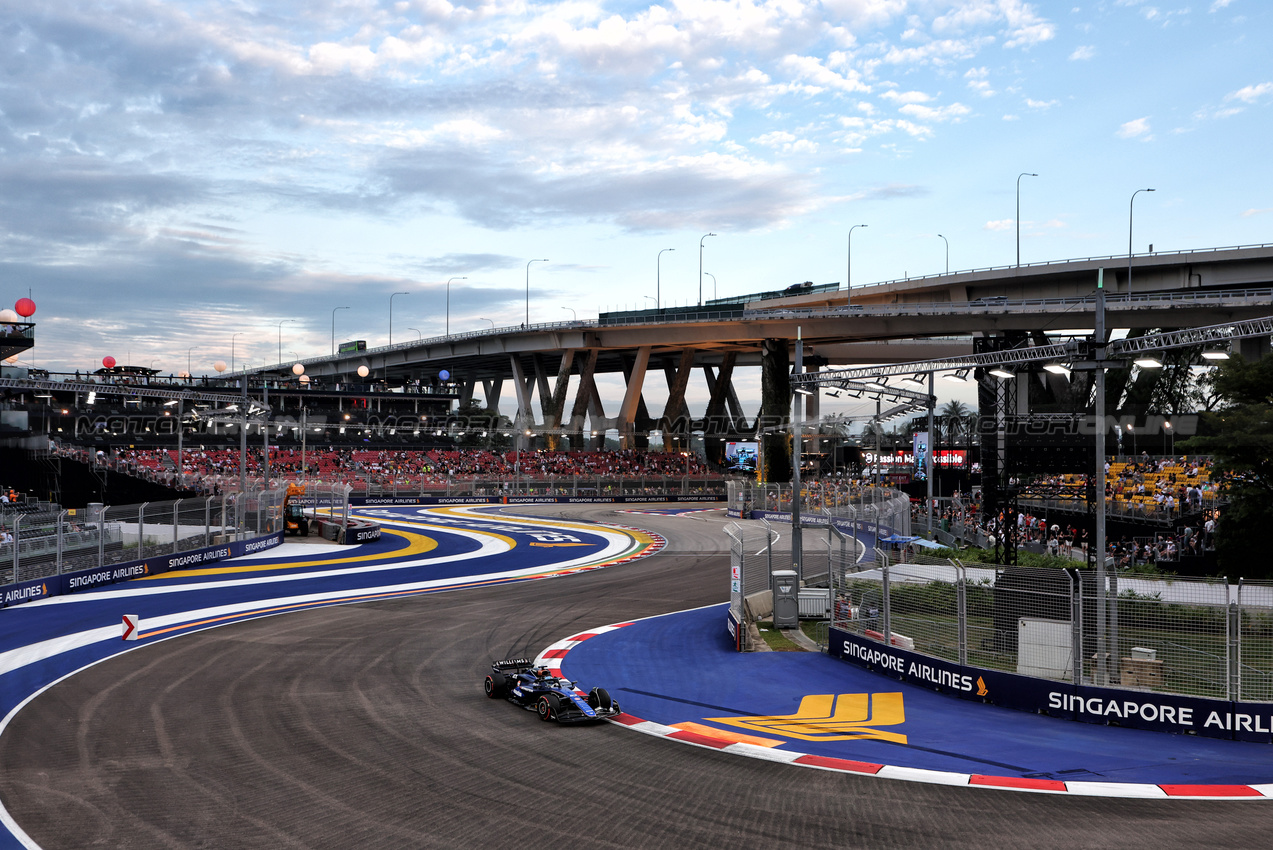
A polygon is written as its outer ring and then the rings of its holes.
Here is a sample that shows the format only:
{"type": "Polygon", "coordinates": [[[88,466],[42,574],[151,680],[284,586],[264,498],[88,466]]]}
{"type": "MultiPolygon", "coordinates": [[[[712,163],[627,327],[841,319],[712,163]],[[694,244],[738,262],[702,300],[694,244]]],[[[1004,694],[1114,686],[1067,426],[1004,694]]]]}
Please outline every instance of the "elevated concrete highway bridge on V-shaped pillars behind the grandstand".
{"type": "MultiPolygon", "coordinates": [[[[1263,317],[1273,308],[1273,244],[1262,244],[980,268],[883,281],[852,293],[834,285],[796,289],[701,308],[454,333],[302,363],[306,374],[325,386],[434,386],[453,389],[461,405],[480,392],[485,406],[496,408],[510,383],[522,444],[528,433],[547,435],[551,444],[565,434],[572,445],[589,436],[600,442],[606,430],[617,430],[634,445],[649,430],[743,434],[755,425],[754,416],[749,425],[735,391],[736,370],[760,366],[766,356],[785,369],[797,331],[812,346],[807,369],[962,356],[983,336],[1026,333],[1043,342],[1049,335],[1085,335],[1094,324],[1099,275],[1111,328],[1217,324],[1263,317]],[[356,377],[359,366],[367,366],[368,378],[356,377]],[[658,417],[643,400],[651,369],[662,370],[667,383],[658,417]],[[695,370],[709,393],[700,420],[689,417],[685,403],[695,370]],[[624,378],[612,415],[597,392],[596,378],[603,374],[624,378]]],[[[1242,345],[1248,355],[1268,350],[1268,340],[1242,345]]],[[[288,380],[294,379],[292,365],[247,374],[288,380]]],[[[807,414],[817,416],[817,396],[807,414]]]]}

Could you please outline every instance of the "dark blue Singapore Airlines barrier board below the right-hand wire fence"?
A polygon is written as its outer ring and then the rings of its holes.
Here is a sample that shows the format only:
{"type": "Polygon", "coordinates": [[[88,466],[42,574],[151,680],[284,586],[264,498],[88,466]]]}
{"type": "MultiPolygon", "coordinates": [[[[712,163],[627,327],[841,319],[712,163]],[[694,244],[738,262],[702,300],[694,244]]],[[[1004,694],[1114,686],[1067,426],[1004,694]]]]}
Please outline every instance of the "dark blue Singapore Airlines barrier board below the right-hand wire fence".
{"type": "Polygon", "coordinates": [[[1273,743],[1273,704],[1072,685],[931,658],[831,629],[833,658],[965,700],[1080,723],[1273,743]]]}

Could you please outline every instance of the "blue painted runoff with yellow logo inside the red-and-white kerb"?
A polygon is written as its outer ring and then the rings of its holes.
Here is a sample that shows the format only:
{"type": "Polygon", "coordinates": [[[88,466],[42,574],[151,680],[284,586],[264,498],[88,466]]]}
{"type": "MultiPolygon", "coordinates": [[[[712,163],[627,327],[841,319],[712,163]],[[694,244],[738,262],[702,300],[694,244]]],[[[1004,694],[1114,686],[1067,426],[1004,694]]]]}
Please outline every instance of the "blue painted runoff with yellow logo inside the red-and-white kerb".
{"type": "Polygon", "coordinates": [[[700,732],[751,735],[815,756],[1062,781],[1273,781],[1269,744],[1090,725],[970,702],[821,653],[737,653],[727,611],[713,606],[598,634],[569,651],[563,674],[584,690],[607,688],[625,713],[643,720],[696,724],[700,732]]]}

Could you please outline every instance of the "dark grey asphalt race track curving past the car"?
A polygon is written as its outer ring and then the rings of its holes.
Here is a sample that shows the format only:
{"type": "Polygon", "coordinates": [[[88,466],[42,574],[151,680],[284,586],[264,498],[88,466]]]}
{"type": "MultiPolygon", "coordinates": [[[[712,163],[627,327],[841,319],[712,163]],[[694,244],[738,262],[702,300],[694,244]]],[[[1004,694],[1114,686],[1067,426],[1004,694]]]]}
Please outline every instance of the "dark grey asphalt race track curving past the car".
{"type": "MultiPolygon", "coordinates": [[[[318,608],[143,646],[0,737],[0,799],[53,847],[1256,847],[1267,803],[1060,798],[740,758],[484,699],[489,662],[723,602],[719,514],[551,580],[318,608]]],[[[634,649],[633,651],[640,651],[634,649]]]]}

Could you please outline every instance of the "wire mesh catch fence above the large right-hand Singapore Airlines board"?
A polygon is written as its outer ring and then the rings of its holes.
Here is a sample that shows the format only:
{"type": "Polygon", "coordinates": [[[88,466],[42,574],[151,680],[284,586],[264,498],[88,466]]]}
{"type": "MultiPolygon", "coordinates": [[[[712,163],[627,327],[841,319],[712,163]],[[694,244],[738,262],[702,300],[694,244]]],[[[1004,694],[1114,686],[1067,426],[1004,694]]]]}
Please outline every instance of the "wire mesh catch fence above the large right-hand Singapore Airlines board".
{"type": "Polygon", "coordinates": [[[1273,701],[1273,583],[880,554],[834,571],[833,627],[933,658],[1081,685],[1273,701]]]}

